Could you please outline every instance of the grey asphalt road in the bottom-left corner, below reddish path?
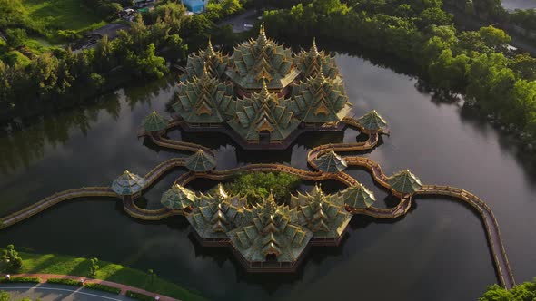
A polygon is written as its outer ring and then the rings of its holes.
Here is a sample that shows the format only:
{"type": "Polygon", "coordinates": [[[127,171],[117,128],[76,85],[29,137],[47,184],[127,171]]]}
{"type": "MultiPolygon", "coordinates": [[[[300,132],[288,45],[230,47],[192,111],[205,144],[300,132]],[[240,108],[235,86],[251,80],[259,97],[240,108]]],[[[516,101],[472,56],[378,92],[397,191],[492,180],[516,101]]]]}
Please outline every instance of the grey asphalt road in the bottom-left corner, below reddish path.
{"type": "Polygon", "coordinates": [[[0,284],[0,290],[11,294],[12,300],[28,297],[32,300],[63,300],[63,301],[132,301],[127,296],[119,296],[94,289],[75,286],[42,284],[9,283],[0,284]]]}

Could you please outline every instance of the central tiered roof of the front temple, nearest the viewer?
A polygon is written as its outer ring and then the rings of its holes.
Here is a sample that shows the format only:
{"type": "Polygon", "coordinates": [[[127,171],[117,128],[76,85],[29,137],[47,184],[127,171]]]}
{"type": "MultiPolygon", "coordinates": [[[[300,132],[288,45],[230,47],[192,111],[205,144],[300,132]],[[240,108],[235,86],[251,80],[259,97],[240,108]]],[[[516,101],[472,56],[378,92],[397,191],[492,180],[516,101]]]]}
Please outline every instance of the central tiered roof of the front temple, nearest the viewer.
{"type": "Polygon", "coordinates": [[[245,260],[263,262],[267,255],[274,255],[280,263],[297,261],[313,237],[310,230],[300,226],[296,209],[278,206],[272,194],[253,207],[249,222],[228,235],[245,260]]]}

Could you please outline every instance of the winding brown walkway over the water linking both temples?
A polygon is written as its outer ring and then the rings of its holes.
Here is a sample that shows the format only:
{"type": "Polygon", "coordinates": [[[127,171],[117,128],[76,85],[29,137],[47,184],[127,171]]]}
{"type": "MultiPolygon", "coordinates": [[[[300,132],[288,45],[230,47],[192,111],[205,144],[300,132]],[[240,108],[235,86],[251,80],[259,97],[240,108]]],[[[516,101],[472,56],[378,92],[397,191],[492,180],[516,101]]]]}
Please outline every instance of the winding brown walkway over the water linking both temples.
{"type": "MultiPolygon", "coordinates": [[[[168,125],[168,129],[175,127],[179,121],[172,121],[168,125]]],[[[248,164],[231,170],[209,170],[207,172],[186,172],[179,179],[175,180],[176,184],[186,185],[191,180],[197,178],[211,179],[211,180],[225,180],[233,176],[233,174],[242,171],[282,171],[286,173],[291,173],[300,177],[302,180],[339,180],[344,185],[353,186],[358,183],[357,180],[353,179],[350,175],[345,172],[339,173],[325,173],[317,169],[316,164],[314,163],[317,158],[323,154],[335,151],[335,152],[351,152],[351,151],[362,151],[362,150],[372,150],[379,141],[380,134],[386,134],[387,131],[366,131],[362,128],[359,122],[353,120],[352,118],[344,118],[342,120],[346,126],[351,126],[357,128],[359,131],[367,133],[369,138],[367,141],[354,142],[354,143],[333,143],[333,144],[324,144],[317,146],[310,150],[307,154],[307,162],[313,168],[313,170],[300,170],[293,168],[291,166],[282,165],[282,164],[248,164]]],[[[170,139],[165,139],[160,134],[150,134],[144,131],[140,132],[140,135],[145,135],[150,137],[155,144],[160,145],[165,148],[170,148],[173,150],[186,150],[186,151],[196,151],[202,149],[209,154],[213,154],[213,151],[198,145],[195,143],[189,143],[184,141],[174,141],[170,139]]],[[[396,197],[399,197],[401,200],[399,204],[393,208],[381,209],[370,207],[368,209],[352,209],[347,208],[353,214],[364,214],[374,218],[399,218],[405,215],[412,205],[412,195],[402,195],[394,191],[388,183],[389,177],[383,173],[380,164],[364,158],[361,156],[345,156],[348,166],[359,166],[369,170],[372,173],[372,178],[374,181],[382,185],[382,187],[389,189],[392,194],[396,197]]],[[[154,167],[153,170],[149,171],[145,178],[147,179],[147,184],[144,187],[150,187],[153,183],[160,179],[168,170],[172,170],[175,167],[184,166],[184,158],[174,158],[170,160],[165,160],[161,164],[154,167]]],[[[433,185],[423,185],[422,189],[415,192],[416,195],[446,195],[452,198],[456,198],[460,201],[463,201],[469,204],[481,215],[481,219],[486,228],[486,234],[488,242],[490,244],[491,254],[493,256],[493,263],[497,269],[498,277],[501,281],[501,284],[506,288],[510,289],[515,285],[515,280],[511,272],[511,267],[508,262],[508,257],[504,249],[504,244],[501,239],[501,232],[499,231],[499,225],[497,220],[493,216],[491,209],[479,198],[467,192],[463,189],[456,189],[447,186],[433,186],[433,185]]],[[[104,187],[95,187],[95,188],[82,188],[82,189],[70,189],[63,192],[57,193],[53,196],[45,198],[34,205],[15,212],[5,218],[2,218],[2,225],[0,228],[5,228],[15,224],[16,222],[29,218],[36,213],[47,209],[56,203],[66,200],[74,199],[81,197],[115,197],[117,196],[111,189],[104,187]]],[[[140,218],[144,220],[159,220],[163,218],[168,218],[174,215],[184,215],[182,210],[170,210],[170,209],[140,209],[134,204],[134,199],[124,198],[124,210],[134,218],[140,218]]]]}

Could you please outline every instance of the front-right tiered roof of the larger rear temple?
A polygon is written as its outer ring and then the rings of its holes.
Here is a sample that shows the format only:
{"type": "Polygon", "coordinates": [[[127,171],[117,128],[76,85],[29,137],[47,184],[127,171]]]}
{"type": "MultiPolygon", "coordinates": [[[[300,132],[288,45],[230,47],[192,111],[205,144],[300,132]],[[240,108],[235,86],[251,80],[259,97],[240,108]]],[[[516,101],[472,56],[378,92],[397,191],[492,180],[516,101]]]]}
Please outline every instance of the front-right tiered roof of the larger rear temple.
{"type": "Polygon", "coordinates": [[[342,82],[326,78],[322,72],[295,85],[293,97],[300,119],[307,123],[340,121],[344,116],[338,114],[348,104],[342,82]]]}

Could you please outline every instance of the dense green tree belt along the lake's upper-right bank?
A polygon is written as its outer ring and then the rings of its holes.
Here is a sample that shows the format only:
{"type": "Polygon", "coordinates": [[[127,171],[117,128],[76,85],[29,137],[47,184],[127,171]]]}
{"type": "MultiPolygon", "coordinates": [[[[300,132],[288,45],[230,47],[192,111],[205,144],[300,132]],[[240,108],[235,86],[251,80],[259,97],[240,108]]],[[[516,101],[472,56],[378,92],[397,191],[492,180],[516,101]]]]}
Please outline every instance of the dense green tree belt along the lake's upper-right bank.
{"type": "MultiPolygon", "coordinates": [[[[482,11],[482,2],[475,5],[482,11]]],[[[536,138],[536,91],[530,83],[535,78],[534,58],[507,56],[511,37],[501,29],[487,26],[457,32],[441,1],[364,0],[349,6],[337,0],[313,0],[265,12],[263,20],[268,34],[359,44],[412,63],[433,86],[465,94],[467,103],[515,124],[530,134],[525,135],[532,137],[528,139],[536,138]]]]}

